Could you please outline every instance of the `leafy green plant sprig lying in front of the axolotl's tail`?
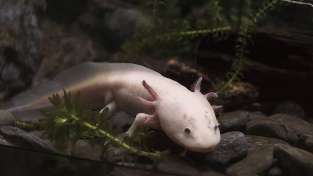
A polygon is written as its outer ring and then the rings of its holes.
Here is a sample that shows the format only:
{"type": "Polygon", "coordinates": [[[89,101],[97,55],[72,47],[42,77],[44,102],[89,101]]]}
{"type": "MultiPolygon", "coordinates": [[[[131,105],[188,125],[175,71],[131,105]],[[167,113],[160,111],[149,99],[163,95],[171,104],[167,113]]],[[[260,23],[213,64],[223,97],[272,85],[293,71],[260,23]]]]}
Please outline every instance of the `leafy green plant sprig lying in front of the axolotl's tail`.
{"type": "MultiPolygon", "coordinates": [[[[58,94],[49,97],[50,102],[54,106],[54,110],[40,110],[40,113],[46,117],[42,120],[44,123],[45,135],[55,144],[61,145],[65,142],[71,142],[72,146],[80,138],[88,138],[93,148],[95,139],[100,138],[101,156],[106,157],[106,151],[110,147],[124,147],[127,149],[126,154],[134,153],[137,156],[146,156],[154,161],[161,161],[162,156],[167,152],[150,152],[146,147],[146,151],[134,148],[133,144],[136,140],[140,144],[144,143],[146,134],[151,133],[147,128],[140,130],[139,128],[124,140],[120,140],[117,134],[121,132],[121,127],[113,128],[113,123],[106,118],[109,108],[105,108],[101,113],[99,111],[86,110],[88,103],[79,103],[80,92],[78,92],[73,100],[71,100],[71,92],[66,93],[64,90],[64,103],[58,94]],[[106,139],[109,139],[106,142],[106,139]]],[[[145,146],[145,144],[143,144],[145,146]]]]}

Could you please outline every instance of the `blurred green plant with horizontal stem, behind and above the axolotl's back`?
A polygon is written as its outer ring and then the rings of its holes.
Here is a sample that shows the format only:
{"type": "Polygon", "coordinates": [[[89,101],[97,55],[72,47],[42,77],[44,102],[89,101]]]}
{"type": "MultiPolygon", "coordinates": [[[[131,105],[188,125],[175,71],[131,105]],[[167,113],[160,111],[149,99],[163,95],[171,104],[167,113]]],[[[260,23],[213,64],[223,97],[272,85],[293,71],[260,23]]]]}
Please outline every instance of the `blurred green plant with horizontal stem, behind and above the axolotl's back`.
{"type": "Polygon", "coordinates": [[[142,0],[142,13],[145,14],[146,26],[131,38],[125,40],[121,52],[115,54],[117,62],[134,62],[139,56],[161,50],[167,55],[175,55],[194,38],[210,34],[218,41],[228,37],[230,26],[226,23],[218,0],[209,0],[208,15],[210,19],[198,19],[194,25],[177,17],[175,7],[178,1],[142,0]]]}

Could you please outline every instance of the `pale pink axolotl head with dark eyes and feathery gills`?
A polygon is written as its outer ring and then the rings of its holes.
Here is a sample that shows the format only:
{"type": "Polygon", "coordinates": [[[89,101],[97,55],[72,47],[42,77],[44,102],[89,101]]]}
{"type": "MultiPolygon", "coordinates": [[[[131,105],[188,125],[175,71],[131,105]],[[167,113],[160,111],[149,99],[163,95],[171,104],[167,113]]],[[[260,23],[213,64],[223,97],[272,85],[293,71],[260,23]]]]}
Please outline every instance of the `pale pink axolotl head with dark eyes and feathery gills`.
{"type": "Polygon", "coordinates": [[[203,95],[200,92],[202,77],[196,81],[192,91],[185,90],[166,97],[159,96],[149,85],[144,85],[153,97],[155,116],[162,130],[179,145],[196,152],[209,152],[220,141],[218,121],[207,98],[216,93],[203,95]],[[148,86],[148,87],[147,87],[148,86]],[[149,90],[151,89],[152,92],[149,90]]]}

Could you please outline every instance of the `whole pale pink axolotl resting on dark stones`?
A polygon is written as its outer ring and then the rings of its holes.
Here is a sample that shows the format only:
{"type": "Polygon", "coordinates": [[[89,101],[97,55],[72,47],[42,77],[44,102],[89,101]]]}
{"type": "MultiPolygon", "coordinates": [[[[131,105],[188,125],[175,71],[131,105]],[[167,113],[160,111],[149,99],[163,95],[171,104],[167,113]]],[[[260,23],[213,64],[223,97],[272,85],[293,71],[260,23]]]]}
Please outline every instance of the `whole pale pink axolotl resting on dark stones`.
{"type": "Polygon", "coordinates": [[[208,152],[220,141],[218,121],[207,98],[216,93],[200,92],[202,78],[192,91],[172,79],[131,63],[86,62],[69,68],[51,81],[16,95],[0,108],[16,119],[36,121],[42,118],[38,109],[49,108],[52,93],[63,94],[62,88],[72,95],[81,91],[81,100],[91,100],[90,108],[108,107],[135,117],[127,131],[131,134],[138,126],[162,129],[179,145],[196,152],[208,152]],[[149,84],[148,84],[149,83],[149,84]]]}

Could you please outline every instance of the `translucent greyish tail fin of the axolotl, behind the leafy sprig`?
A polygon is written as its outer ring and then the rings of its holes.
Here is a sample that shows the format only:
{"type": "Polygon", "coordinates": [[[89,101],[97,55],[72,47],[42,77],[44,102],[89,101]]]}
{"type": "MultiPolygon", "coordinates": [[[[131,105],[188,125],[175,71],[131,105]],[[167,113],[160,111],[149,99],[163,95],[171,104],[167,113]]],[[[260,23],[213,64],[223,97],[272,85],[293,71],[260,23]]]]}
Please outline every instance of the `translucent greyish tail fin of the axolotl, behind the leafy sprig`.
{"type": "Polygon", "coordinates": [[[36,87],[17,94],[8,103],[1,104],[0,109],[11,112],[17,120],[37,121],[42,118],[38,109],[52,108],[48,97],[53,93],[59,93],[62,98],[64,88],[67,92],[72,91],[73,94],[73,89],[105,70],[110,70],[109,63],[79,64],[59,73],[53,80],[43,81],[36,87]]]}

